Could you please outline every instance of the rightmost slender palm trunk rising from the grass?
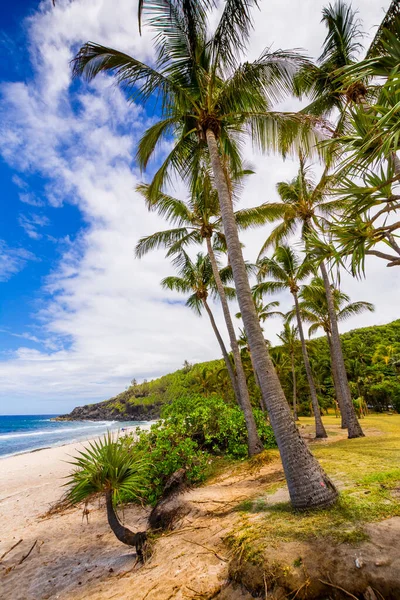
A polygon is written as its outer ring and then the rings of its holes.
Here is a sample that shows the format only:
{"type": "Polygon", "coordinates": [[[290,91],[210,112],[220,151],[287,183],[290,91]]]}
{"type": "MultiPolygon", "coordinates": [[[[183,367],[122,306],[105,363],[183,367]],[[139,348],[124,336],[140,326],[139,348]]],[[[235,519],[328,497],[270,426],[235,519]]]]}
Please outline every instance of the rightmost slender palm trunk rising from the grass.
{"type": "Polygon", "coordinates": [[[348,437],[363,437],[364,433],[361,429],[360,423],[358,422],[357,415],[353,406],[353,401],[351,399],[349,382],[347,380],[346,367],[344,364],[342,345],[340,343],[339,328],[337,324],[337,316],[333,300],[331,282],[329,280],[328,271],[326,270],[325,263],[323,261],[320,264],[320,269],[322,278],[324,280],[326,299],[328,303],[329,320],[331,322],[332,349],[336,359],[337,374],[339,378],[340,389],[342,391],[343,405],[347,416],[347,429],[349,432],[348,437]]]}

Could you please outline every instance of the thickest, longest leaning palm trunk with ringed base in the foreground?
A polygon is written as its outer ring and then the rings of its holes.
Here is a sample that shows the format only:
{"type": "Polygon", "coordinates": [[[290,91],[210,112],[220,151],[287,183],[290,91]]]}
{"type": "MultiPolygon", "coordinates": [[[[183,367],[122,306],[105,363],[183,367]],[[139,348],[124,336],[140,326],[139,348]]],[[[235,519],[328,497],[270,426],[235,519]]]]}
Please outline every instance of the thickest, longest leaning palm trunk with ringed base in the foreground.
{"type": "Polygon", "coordinates": [[[243,260],[217,140],[210,129],[206,131],[206,138],[240,312],[257,370],[261,393],[281,454],[292,505],[298,509],[329,506],[337,499],[337,490],[300,436],[272,364],[247,278],[246,265],[243,260]]]}

